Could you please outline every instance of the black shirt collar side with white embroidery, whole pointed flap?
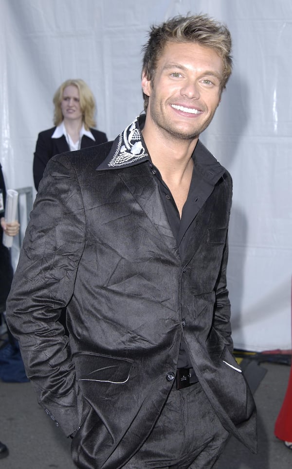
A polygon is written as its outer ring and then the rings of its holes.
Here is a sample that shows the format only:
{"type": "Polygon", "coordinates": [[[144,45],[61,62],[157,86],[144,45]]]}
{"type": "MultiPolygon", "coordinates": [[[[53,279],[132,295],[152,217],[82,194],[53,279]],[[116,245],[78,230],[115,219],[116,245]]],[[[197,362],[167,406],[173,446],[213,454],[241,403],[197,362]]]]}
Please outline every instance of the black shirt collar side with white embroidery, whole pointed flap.
{"type": "Polygon", "coordinates": [[[142,115],[114,140],[107,158],[98,166],[98,170],[128,168],[149,159],[148,150],[142,137],[146,116],[142,115]],[[143,125],[142,125],[143,124],[143,125]]]}

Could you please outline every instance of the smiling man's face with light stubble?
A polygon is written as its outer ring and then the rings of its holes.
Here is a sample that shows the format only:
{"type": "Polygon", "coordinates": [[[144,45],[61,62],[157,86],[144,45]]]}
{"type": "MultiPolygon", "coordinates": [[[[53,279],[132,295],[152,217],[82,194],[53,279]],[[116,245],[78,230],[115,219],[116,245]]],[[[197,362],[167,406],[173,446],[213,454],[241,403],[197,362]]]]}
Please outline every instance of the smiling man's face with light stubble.
{"type": "Polygon", "coordinates": [[[220,102],[222,73],[222,59],[213,49],[168,42],[154,79],[142,78],[149,96],[147,118],[176,139],[198,138],[220,102]]]}

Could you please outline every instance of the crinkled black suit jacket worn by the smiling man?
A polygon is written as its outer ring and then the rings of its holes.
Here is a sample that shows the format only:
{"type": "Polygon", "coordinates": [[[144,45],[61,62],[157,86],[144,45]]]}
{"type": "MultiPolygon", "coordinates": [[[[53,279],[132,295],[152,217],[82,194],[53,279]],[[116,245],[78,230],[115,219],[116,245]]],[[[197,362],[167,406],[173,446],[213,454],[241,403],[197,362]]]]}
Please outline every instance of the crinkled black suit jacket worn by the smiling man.
{"type": "Polygon", "coordinates": [[[194,170],[209,189],[182,259],[145,150],[135,140],[130,155],[122,139],[53,157],[40,184],[7,304],[38,401],[65,434],[81,426],[78,467],[120,468],[164,406],[183,335],[223,426],[255,451],[254,400],[230,337],[231,177],[198,142],[194,170]]]}

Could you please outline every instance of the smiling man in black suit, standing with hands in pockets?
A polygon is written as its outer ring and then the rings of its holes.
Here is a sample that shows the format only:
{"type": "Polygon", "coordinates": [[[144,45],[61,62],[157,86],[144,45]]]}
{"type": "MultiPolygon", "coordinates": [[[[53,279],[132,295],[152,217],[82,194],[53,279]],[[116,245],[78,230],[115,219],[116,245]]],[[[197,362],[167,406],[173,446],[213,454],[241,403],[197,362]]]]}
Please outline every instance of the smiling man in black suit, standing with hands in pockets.
{"type": "Polygon", "coordinates": [[[146,114],[113,142],[53,157],[39,187],[7,320],[77,468],[208,469],[230,433],[256,452],[232,354],[232,181],[199,140],[230,51],[204,15],[152,27],[146,114]]]}

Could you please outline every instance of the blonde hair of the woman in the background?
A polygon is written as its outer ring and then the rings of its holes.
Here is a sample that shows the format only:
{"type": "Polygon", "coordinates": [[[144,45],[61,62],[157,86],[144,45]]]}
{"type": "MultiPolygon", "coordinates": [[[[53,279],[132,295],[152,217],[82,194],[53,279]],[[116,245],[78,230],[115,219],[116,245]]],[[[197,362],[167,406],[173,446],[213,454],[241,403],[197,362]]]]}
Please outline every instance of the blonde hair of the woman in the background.
{"type": "Polygon", "coordinates": [[[63,114],[61,110],[63,92],[66,87],[69,87],[71,85],[78,88],[80,100],[79,102],[82,112],[82,121],[85,129],[89,130],[90,127],[96,126],[96,122],[94,120],[95,101],[90,88],[86,85],[83,80],[81,80],[81,78],[66,80],[56,90],[53,98],[53,103],[55,106],[54,124],[59,125],[63,121],[63,114]]]}

